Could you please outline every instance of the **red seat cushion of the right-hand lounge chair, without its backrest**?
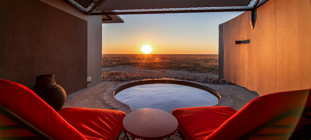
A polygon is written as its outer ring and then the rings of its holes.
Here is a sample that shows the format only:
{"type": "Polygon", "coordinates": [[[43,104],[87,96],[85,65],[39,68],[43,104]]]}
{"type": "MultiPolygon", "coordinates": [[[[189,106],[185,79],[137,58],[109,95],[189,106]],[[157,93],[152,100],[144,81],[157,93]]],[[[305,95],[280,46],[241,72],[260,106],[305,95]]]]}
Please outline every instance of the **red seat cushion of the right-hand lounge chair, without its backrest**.
{"type": "Polygon", "coordinates": [[[178,129],[186,140],[205,138],[237,111],[226,106],[174,109],[178,129]]]}

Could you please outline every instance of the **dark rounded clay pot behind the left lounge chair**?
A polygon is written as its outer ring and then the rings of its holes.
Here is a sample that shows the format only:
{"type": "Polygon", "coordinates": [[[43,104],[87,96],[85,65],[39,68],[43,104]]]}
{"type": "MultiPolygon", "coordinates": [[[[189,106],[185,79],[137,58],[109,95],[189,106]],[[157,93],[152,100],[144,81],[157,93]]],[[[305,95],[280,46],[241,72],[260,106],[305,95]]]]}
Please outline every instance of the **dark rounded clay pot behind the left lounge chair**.
{"type": "Polygon", "coordinates": [[[31,88],[39,97],[56,111],[62,109],[66,101],[66,92],[55,83],[54,75],[37,76],[36,84],[31,88]]]}

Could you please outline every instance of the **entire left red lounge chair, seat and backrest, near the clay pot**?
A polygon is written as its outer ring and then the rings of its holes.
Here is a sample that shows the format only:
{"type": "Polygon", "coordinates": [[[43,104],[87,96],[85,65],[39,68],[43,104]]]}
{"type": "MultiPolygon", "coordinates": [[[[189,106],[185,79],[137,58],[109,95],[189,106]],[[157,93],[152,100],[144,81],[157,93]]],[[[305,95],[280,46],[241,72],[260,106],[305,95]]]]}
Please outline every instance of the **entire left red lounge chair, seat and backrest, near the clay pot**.
{"type": "Polygon", "coordinates": [[[0,80],[0,139],[113,140],[125,113],[64,108],[56,112],[32,90],[0,80]]]}

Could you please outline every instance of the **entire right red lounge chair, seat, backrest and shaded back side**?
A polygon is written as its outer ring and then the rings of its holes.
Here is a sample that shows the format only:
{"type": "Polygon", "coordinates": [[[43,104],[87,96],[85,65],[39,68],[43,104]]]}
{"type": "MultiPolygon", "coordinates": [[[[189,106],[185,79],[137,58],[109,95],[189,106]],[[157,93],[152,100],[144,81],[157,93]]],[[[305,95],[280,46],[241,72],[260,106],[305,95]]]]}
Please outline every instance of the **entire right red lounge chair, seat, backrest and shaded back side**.
{"type": "Polygon", "coordinates": [[[310,90],[268,94],[239,111],[212,106],[174,109],[172,114],[186,140],[288,139],[309,94],[310,90]]]}

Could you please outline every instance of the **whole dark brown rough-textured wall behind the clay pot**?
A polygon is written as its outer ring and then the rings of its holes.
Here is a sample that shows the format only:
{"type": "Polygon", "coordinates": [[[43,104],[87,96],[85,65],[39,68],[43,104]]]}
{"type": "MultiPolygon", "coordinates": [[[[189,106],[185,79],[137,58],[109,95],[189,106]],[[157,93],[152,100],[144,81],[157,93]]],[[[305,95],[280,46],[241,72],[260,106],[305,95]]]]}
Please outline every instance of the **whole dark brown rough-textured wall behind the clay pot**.
{"type": "Polygon", "coordinates": [[[38,0],[0,6],[0,79],[31,88],[55,74],[67,94],[86,88],[87,21],[38,0]]]}

